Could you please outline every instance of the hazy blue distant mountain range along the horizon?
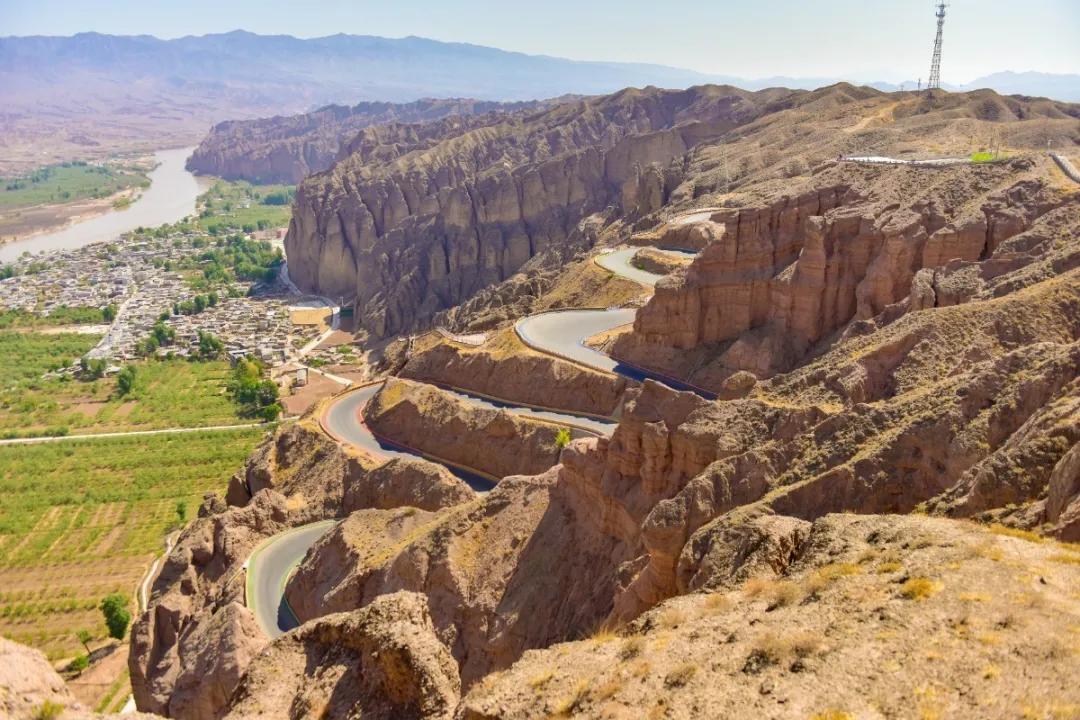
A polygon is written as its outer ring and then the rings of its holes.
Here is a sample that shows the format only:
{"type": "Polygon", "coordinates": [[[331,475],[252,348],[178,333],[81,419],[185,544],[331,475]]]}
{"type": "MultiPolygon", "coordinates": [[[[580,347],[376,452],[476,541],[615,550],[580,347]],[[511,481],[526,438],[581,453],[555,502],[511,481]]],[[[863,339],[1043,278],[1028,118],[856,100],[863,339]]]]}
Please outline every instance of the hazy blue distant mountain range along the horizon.
{"type": "MultiPolygon", "coordinates": [[[[295,113],[330,103],[529,100],[703,83],[813,89],[837,80],[751,80],[414,37],[298,39],[243,30],[175,40],[96,32],[8,37],[0,38],[0,154],[5,155],[0,172],[133,145],[194,142],[222,120],[295,113]]],[[[1080,74],[998,73],[972,86],[1080,100],[1080,74]]]]}

